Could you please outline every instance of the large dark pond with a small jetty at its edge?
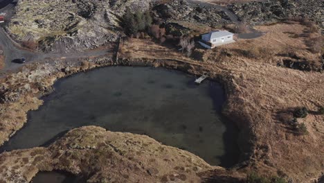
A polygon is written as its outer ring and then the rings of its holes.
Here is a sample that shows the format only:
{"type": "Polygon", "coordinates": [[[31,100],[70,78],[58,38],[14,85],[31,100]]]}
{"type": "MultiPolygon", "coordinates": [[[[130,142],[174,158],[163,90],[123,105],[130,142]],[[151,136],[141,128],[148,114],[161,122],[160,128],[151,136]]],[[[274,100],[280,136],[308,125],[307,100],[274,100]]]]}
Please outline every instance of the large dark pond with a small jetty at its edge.
{"type": "Polygon", "coordinates": [[[59,80],[39,110],[3,150],[46,146],[67,130],[98,125],[147,134],[213,165],[237,160],[236,130],[221,115],[224,92],[216,82],[149,67],[106,67],[59,80]]]}

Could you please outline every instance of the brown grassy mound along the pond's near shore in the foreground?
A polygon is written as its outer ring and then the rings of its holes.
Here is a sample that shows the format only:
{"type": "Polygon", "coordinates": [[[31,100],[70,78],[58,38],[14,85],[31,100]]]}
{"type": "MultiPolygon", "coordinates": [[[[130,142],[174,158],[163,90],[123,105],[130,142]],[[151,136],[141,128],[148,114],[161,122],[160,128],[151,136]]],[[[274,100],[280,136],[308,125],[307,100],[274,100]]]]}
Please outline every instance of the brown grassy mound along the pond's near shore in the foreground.
{"type": "Polygon", "coordinates": [[[48,148],[0,155],[0,182],[30,182],[37,172],[53,170],[87,182],[201,182],[206,171],[233,174],[150,137],[95,126],[71,130],[48,148]]]}

